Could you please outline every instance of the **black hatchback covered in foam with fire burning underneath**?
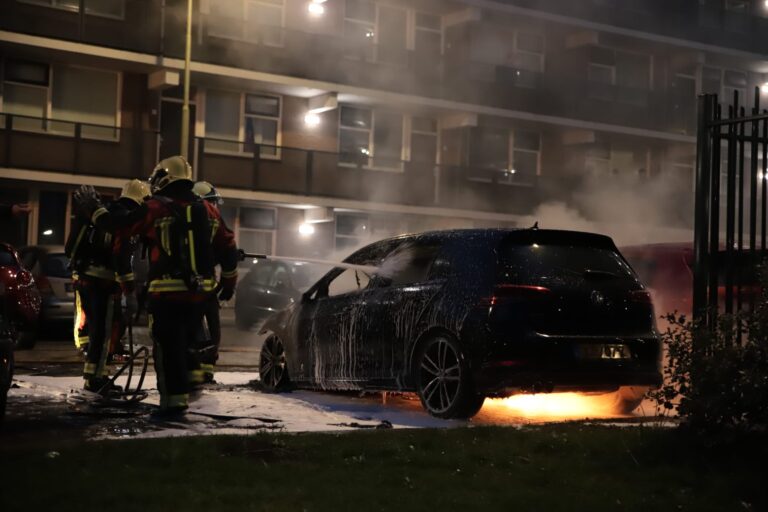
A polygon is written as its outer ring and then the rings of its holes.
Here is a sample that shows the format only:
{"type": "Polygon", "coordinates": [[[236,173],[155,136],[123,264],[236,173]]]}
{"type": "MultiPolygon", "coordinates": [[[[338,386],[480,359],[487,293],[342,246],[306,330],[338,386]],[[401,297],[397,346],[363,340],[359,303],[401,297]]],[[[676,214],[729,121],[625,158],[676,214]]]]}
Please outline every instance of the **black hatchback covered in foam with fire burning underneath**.
{"type": "MultiPolygon", "coordinates": [[[[650,295],[606,236],[428,232],[345,263],[267,320],[265,389],[415,391],[466,418],[489,396],[661,382],[650,295]]],[[[631,410],[642,393],[617,396],[631,410]]]]}

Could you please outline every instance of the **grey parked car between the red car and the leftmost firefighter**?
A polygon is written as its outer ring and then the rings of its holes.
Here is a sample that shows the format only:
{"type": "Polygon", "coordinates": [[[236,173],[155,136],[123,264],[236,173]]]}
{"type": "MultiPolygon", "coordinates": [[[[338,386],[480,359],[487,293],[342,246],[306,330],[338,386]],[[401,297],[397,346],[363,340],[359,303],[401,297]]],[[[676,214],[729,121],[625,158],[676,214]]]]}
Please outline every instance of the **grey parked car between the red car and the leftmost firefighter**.
{"type": "Polygon", "coordinates": [[[40,323],[74,322],[75,294],[69,258],[61,246],[36,245],[19,251],[24,268],[32,272],[43,299],[40,323]]]}

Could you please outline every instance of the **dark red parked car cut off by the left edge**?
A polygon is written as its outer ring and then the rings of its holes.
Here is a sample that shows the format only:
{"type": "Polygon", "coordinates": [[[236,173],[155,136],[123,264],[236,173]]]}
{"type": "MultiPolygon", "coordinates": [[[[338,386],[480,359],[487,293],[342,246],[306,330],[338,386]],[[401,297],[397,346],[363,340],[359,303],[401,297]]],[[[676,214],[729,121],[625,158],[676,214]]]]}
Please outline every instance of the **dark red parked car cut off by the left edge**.
{"type": "Polygon", "coordinates": [[[17,348],[32,348],[35,343],[41,302],[35,285],[14,248],[0,243],[0,314],[17,348]]]}

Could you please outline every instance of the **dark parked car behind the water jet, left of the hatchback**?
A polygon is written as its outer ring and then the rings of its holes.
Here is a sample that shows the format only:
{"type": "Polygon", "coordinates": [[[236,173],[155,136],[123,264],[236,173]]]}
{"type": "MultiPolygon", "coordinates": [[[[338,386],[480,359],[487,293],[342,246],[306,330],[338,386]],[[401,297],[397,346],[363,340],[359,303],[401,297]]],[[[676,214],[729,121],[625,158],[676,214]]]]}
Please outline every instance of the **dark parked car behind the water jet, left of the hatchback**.
{"type": "Polygon", "coordinates": [[[301,299],[322,272],[303,262],[254,259],[237,285],[235,325],[249,330],[260,327],[273,313],[301,299]]]}

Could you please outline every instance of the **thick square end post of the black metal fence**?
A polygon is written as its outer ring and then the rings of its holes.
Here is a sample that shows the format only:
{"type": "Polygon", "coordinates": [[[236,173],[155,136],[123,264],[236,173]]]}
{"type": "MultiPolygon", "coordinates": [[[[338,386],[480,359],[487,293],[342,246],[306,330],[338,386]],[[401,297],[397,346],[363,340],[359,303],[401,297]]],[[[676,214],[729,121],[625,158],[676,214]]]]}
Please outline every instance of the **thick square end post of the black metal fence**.
{"type": "MultiPolygon", "coordinates": [[[[696,191],[693,231],[693,318],[701,320],[707,313],[707,254],[709,234],[709,187],[711,185],[711,140],[709,123],[713,118],[716,96],[702,94],[698,105],[696,144],[696,191]]],[[[719,144],[719,140],[717,141],[719,144]]],[[[714,212],[719,213],[719,212],[714,212]]]]}

